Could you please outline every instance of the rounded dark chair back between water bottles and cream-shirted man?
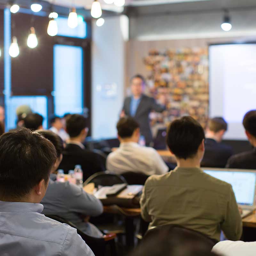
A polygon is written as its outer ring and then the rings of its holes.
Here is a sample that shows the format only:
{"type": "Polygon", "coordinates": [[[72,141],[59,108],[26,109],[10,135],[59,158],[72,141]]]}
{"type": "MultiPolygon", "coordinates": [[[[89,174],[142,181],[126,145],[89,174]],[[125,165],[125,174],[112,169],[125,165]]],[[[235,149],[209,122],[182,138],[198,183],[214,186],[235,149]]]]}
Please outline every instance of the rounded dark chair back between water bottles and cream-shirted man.
{"type": "Polygon", "coordinates": [[[94,173],[92,176],[84,181],[84,186],[92,182],[95,184],[95,187],[98,187],[99,185],[113,186],[115,184],[127,183],[123,176],[117,175],[109,171],[94,173]]]}

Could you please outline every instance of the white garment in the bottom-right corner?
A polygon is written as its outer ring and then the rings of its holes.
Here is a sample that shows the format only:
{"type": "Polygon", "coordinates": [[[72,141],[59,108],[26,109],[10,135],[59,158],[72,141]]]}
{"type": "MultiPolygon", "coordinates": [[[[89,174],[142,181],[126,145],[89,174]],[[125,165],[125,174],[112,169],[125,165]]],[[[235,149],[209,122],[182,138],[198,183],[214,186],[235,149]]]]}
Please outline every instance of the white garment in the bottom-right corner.
{"type": "Polygon", "coordinates": [[[212,248],[212,252],[223,256],[255,256],[256,242],[222,241],[212,248]]]}

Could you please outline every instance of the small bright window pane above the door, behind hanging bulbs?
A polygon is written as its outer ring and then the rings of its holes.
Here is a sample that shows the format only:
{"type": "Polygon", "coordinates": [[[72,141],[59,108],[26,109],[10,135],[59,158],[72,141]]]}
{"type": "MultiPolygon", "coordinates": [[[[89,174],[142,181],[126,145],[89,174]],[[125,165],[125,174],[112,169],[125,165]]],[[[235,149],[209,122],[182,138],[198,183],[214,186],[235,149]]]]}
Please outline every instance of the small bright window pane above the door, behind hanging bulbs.
{"type": "Polygon", "coordinates": [[[78,26],[76,28],[68,27],[68,18],[58,17],[56,19],[58,25],[58,36],[69,36],[77,38],[85,38],[86,33],[86,22],[78,19],[78,26]]]}

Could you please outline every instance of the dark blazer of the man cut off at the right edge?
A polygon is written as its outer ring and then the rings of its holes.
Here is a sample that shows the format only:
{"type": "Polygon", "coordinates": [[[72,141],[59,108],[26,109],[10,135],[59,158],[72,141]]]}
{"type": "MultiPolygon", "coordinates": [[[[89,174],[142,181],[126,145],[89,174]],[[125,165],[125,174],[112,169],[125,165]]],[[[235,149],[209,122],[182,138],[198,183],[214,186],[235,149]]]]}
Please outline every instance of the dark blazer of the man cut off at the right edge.
{"type": "Polygon", "coordinates": [[[256,148],[231,156],[226,167],[256,170],[256,148]]]}

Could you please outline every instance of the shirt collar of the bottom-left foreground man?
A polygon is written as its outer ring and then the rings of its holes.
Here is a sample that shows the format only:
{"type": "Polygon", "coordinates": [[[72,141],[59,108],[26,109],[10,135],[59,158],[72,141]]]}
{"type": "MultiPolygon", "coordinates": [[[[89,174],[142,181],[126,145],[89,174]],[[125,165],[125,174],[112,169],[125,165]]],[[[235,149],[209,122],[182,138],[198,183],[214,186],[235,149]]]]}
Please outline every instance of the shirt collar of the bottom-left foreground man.
{"type": "Polygon", "coordinates": [[[4,202],[0,201],[0,212],[38,212],[44,210],[43,204],[24,202],[4,202]]]}

